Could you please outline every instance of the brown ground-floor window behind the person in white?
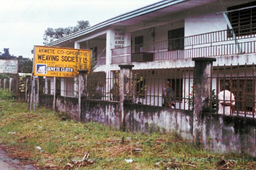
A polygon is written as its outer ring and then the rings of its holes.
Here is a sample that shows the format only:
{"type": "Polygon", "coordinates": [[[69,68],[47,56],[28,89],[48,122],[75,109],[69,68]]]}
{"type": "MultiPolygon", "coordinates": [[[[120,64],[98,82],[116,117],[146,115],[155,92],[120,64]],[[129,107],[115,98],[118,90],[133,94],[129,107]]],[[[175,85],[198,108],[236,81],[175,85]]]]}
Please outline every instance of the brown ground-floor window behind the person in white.
{"type": "MultiPolygon", "coordinates": [[[[231,84],[231,92],[234,94],[235,110],[241,112],[252,112],[254,103],[255,84],[252,79],[235,78],[226,80],[231,84]]],[[[220,88],[222,88],[223,79],[220,80],[220,88]]]]}

